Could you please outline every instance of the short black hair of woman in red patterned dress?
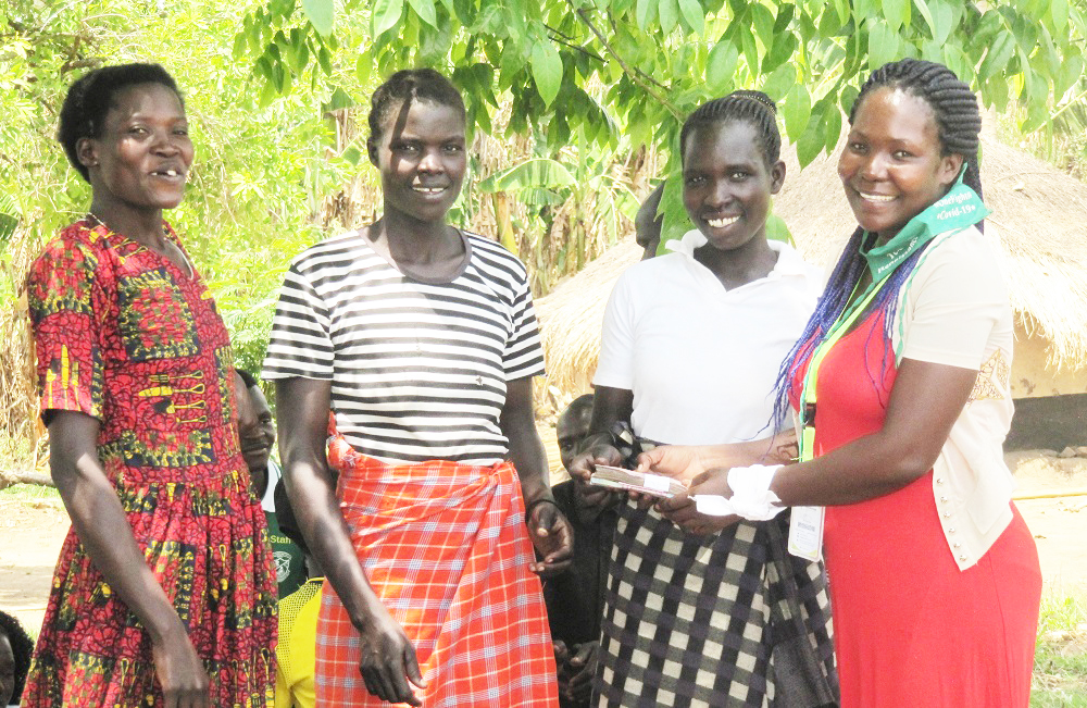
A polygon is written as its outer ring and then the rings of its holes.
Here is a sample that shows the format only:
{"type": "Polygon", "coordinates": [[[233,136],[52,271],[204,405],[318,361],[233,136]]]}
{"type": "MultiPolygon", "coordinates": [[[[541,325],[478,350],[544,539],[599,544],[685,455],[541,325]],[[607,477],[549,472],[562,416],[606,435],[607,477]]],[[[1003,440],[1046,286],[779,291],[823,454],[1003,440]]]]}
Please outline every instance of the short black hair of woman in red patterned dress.
{"type": "Polygon", "coordinates": [[[182,108],[185,108],[177,84],[159,64],[137,62],[101,66],[87,72],[68,87],[61,105],[57,139],[64,147],[68,162],[87,182],[90,182],[90,172],[79,162],[76,144],[83,138],[101,137],[105,114],[115,104],[117,92],[137,84],[161,84],[174,91],[182,108]]]}

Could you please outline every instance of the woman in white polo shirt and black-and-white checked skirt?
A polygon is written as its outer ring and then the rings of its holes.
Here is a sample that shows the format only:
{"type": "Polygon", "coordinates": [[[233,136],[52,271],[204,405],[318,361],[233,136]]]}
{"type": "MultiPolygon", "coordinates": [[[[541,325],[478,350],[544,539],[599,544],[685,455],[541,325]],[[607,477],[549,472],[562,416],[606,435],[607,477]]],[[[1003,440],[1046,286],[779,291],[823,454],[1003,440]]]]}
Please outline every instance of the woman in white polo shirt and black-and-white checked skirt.
{"type": "MultiPolygon", "coordinates": [[[[819,276],[766,239],[785,179],[775,107],[736,91],[698,108],[679,137],[696,229],[619,280],[595,376],[595,439],[572,464],[587,480],[632,440],[771,440],[778,362],[815,306],[819,276]]],[[[626,448],[626,449],[624,449],[626,448]]],[[[784,451],[783,451],[784,450],[784,451]]],[[[586,490],[594,498],[600,493],[586,490]]],[[[819,706],[834,700],[822,568],[790,557],[783,521],[725,527],[619,506],[597,687],[601,706],[819,706]],[[682,523],[680,523],[682,521],[682,523]]]]}

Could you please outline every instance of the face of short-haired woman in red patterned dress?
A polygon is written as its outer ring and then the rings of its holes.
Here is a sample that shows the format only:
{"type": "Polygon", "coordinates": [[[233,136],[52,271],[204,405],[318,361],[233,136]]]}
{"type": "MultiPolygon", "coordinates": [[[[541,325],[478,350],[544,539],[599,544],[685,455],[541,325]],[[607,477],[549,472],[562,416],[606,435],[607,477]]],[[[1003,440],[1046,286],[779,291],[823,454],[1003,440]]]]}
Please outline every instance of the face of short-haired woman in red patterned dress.
{"type": "Polygon", "coordinates": [[[173,209],[192,165],[180,99],[162,84],[128,86],[113,98],[100,136],[76,144],[96,204],[137,212],[173,209]]]}

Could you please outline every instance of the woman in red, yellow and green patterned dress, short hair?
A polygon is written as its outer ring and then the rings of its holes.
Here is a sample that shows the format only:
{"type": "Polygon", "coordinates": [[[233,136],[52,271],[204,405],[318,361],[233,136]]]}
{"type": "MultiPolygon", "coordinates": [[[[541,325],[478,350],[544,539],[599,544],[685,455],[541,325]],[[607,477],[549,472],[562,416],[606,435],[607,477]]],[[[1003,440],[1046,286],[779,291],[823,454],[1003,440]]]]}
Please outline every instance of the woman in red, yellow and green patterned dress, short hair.
{"type": "Polygon", "coordinates": [[[258,705],[275,582],[238,448],[230,341],[162,212],[192,164],[157,64],[89,72],[60,141],[87,215],[30,269],[49,462],[72,518],[25,706],[258,705]]]}

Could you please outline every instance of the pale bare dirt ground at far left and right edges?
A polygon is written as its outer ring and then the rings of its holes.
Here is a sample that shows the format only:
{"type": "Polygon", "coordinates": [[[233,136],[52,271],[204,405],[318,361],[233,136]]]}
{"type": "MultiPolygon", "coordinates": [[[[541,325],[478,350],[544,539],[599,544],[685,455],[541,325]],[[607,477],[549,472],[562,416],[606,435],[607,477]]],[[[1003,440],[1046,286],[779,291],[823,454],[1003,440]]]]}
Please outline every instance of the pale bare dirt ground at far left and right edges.
{"type": "MultiPolygon", "coordinates": [[[[1034,532],[1048,587],[1087,594],[1087,459],[1051,452],[1012,452],[1016,502],[1034,532]],[[1025,498],[1078,492],[1079,496],[1025,498]]],[[[0,608],[37,630],[57,555],[68,529],[59,500],[0,498],[0,608]]]]}

